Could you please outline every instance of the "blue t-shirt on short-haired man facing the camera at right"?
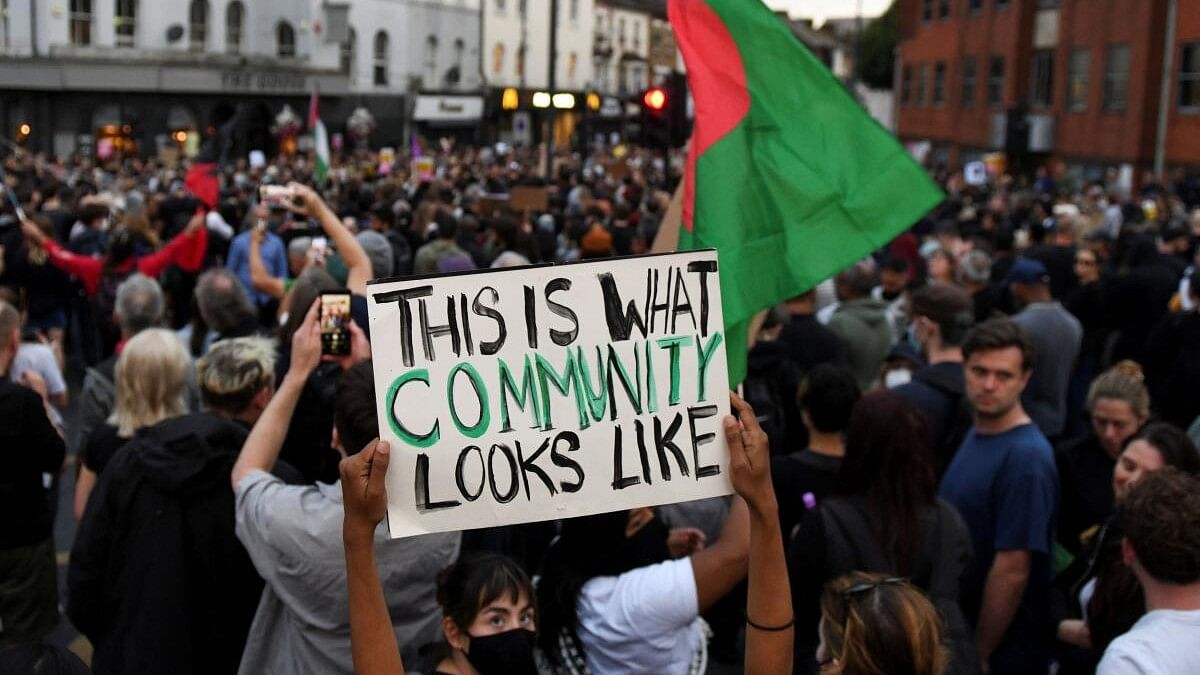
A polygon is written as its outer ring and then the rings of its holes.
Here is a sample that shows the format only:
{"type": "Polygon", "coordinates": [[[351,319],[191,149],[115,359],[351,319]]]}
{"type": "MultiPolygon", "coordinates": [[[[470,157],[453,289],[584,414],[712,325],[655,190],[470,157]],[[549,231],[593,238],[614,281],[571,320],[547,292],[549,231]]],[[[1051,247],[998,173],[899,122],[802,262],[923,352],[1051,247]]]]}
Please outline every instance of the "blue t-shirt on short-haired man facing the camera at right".
{"type": "Polygon", "coordinates": [[[1033,554],[1028,585],[992,664],[1010,656],[1008,651],[1020,652],[1028,668],[1044,668],[1046,655],[1037,647],[1044,646],[1058,507],[1058,472],[1050,443],[1032,423],[991,435],[971,428],[946,471],[941,496],[962,515],[974,544],[962,589],[962,611],[972,623],[978,620],[996,552],[1033,554]]]}

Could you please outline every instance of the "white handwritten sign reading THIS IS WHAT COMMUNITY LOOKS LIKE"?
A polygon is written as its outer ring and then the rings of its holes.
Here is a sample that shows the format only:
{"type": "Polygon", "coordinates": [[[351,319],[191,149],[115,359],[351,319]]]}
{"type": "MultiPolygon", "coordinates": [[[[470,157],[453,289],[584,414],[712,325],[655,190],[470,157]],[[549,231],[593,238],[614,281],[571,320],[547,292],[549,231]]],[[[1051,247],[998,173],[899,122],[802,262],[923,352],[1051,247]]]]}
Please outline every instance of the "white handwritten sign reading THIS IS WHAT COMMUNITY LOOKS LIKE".
{"type": "Polygon", "coordinates": [[[372,282],[392,537],[732,492],[716,251],[372,282]]]}

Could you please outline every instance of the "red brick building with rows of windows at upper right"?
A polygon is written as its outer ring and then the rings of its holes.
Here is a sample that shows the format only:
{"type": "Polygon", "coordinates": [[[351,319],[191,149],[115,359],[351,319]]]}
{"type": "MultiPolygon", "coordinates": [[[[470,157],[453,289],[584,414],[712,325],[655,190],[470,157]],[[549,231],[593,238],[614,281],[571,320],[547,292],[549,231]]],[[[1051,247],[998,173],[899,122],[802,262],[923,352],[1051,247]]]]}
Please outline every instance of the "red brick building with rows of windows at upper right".
{"type": "MultiPolygon", "coordinates": [[[[898,133],[960,166],[1028,126],[1075,178],[1154,165],[1170,0],[896,0],[898,133]],[[925,145],[928,143],[928,145],[925,145]]],[[[1168,167],[1200,165],[1200,0],[1176,0],[1168,167]]]]}

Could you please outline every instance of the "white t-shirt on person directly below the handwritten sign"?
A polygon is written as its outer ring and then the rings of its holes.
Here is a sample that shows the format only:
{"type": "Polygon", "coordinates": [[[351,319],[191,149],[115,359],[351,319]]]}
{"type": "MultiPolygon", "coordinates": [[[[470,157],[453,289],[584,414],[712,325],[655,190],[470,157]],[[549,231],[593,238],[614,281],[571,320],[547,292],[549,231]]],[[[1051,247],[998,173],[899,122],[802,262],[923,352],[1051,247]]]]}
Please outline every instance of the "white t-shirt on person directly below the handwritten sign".
{"type": "Polygon", "coordinates": [[[598,577],[580,590],[578,637],[605,675],[686,675],[703,639],[690,558],[598,577]]]}

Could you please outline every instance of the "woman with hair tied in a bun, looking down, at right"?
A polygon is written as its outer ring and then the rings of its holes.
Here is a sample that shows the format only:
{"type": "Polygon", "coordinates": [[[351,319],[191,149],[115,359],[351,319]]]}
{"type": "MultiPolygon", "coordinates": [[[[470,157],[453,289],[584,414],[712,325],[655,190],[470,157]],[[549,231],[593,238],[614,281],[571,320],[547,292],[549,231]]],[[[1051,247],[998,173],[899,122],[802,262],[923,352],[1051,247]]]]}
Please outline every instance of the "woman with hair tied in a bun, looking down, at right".
{"type": "Polygon", "coordinates": [[[1062,492],[1058,542],[1079,554],[1085,533],[1112,515],[1112,471],[1126,441],[1150,418],[1150,393],[1141,368],[1124,360],[1092,381],[1087,390],[1090,432],[1058,446],[1055,464],[1062,492]]]}

